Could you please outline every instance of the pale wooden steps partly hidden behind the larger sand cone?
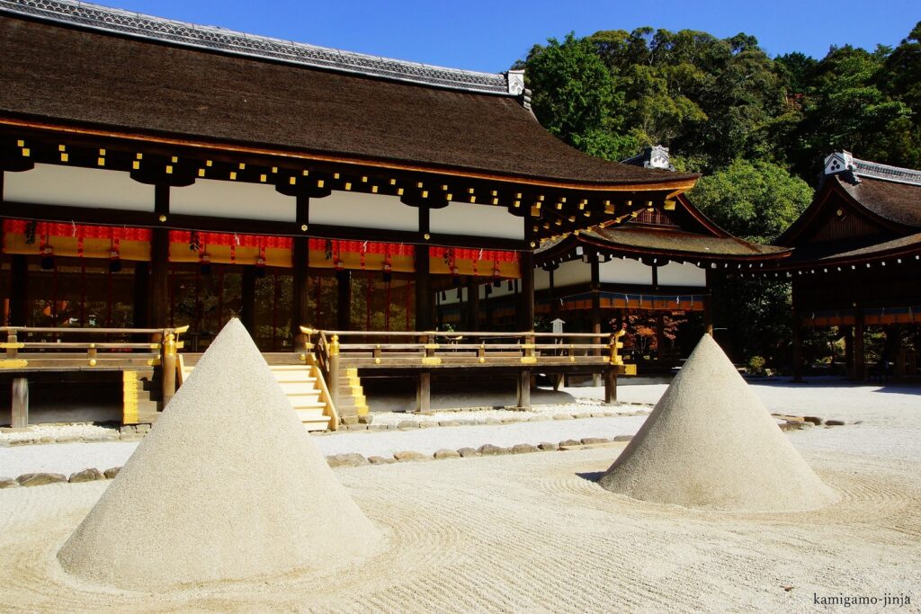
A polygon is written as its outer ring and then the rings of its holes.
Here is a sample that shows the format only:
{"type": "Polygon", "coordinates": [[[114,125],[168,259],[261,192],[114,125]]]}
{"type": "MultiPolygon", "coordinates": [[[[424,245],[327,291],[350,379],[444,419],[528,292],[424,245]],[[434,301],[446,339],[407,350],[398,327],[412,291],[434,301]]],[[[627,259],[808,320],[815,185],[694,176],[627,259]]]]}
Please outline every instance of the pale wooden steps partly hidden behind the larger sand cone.
{"type": "MultiPolygon", "coordinates": [[[[192,373],[194,365],[182,359],[178,384],[192,373]]],[[[319,379],[316,367],[311,365],[269,365],[275,380],[285,391],[291,407],[297,412],[308,431],[334,431],[339,426],[338,416],[327,402],[325,383],[319,379]]]]}

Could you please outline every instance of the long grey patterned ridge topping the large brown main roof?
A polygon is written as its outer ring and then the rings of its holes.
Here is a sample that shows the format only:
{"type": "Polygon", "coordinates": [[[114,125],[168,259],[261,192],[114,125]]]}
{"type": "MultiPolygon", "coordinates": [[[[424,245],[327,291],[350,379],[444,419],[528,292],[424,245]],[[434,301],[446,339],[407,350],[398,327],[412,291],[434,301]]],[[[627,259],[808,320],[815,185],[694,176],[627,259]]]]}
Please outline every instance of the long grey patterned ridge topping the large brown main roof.
{"type": "Polygon", "coordinates": [[[524,80],[520,75],[481,73],[346,52],[76,0],[0,0],[0,12],[3,11],[150,41],[169,42],[214,52],[246,55],[432,87],[506,96],[520,96],[524,93],[524,80]]]}

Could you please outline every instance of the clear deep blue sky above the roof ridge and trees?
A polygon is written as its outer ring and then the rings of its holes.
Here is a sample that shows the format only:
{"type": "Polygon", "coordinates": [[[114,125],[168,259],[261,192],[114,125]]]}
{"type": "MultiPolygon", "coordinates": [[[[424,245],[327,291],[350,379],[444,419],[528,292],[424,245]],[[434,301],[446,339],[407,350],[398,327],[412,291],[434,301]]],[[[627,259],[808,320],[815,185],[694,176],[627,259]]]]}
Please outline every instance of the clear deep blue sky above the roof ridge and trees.
{"type": "Polygon", "coordinates": [[[181,21],[348,51],[487,72],[531,45],[600,29],[752,34],[771,55],[821,58],[830,45],[897,45],[921,20],[918,0],[96,0],[181,21]]]}

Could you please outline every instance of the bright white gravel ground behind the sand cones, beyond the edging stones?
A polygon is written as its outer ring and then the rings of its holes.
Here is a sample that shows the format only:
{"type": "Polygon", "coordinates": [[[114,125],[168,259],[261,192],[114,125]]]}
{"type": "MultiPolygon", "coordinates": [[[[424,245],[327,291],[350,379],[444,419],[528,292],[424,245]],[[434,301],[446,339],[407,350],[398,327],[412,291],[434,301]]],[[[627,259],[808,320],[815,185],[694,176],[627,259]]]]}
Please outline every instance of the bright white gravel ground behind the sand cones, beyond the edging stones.
{"type": "MultiPolygon", "coordinates": [[[[668,388],[665,384],[622,385],[619,400],[654,404],[668,388]]],[[[921,386],[869,386],[849,384],[837,378],[816,378],[810,384],[790,384],[788,380],[757,382],[755,394],[769,411],[815,415],[823,419],[844,420],[847,426],[816,428],[790,434],[796,446],[837,450],[848,454],[869,454],[885,458],[921,459],[916,423],[921,414],[921,386]],[[857,423],[857,424],[855,424],[857,423]]],[[[603,398],[603,388],[568,388],[578,400],[603,398]]],[[[562,406],[547,406],[561,408],[562,406]]],[[[590,411],[589,408],[586,408],[590,411]]],[[[637,407],[620,408],[635,411],[637,407]]],[[[560,411],[564,412],[564,411],[560,411]]],[[[412,414],[395,414],[401,420],[418,420],[412,414]]],[[[508,415],[504,413],[503,415],[508,415]]],[[[445,412],[433,418],[458,420],[464,413],[445,412]]],[[[376,415],[376,420],[378,417],[376,415]]],[[[635,434],[644,417],[550,420],[482,426],[437,427],[410,431],[329,434],[315,441],[325,455],[357,452],[368,456],[390,456],[401,450],[431,454],[440,448],[457,449],[484,444],[558,443],[565,439],[608,437],[635,434]]],[[[136,443],[55,444],[44,446],[0,447],[0,476],[16,477],[31,471],[69,474],[87,467],[107,469],[124,464],[136,443]]]]}

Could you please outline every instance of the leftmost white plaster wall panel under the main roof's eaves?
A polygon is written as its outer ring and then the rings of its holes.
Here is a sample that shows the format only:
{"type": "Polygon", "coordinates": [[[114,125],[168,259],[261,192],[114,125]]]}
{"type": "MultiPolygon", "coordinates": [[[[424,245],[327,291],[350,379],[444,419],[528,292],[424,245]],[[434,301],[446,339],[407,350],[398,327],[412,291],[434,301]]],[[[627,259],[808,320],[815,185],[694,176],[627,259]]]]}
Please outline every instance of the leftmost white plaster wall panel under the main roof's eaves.
{"type": "Polygon", "coordinates": [[[129,173],[105,168],[36,164],[32,170],[4,173],[5,201],[129,211],[154,210],[154,186],[129,173]]]}

